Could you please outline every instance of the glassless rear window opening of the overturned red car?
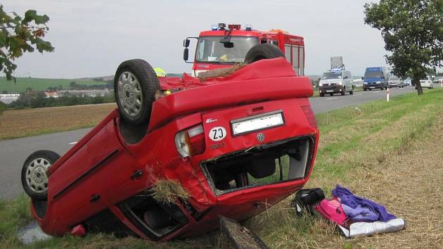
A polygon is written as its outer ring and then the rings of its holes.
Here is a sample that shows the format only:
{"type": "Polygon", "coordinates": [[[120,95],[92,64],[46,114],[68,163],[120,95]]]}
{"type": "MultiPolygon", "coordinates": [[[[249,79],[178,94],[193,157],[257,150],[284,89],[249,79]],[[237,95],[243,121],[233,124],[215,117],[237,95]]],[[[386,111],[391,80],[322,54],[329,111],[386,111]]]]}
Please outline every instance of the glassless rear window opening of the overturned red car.
{"type": "Polygon", "coordinates": [[[306,177],[311,139],[262,145],[250,151],[203,163],[217,195],[306,177]]]}

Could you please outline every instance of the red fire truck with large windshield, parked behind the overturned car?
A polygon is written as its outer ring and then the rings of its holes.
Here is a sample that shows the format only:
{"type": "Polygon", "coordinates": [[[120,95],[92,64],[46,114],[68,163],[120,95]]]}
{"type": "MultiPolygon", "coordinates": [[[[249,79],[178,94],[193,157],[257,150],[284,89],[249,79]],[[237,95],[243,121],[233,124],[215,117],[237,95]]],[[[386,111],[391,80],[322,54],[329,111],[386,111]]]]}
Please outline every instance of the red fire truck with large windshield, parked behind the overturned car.
{"type": "Polygon", "coordinates": [[[252,30],[251,25],[224,23],[211,25],[211,30],[200,32],[198,37],[187,37],[184,40],[184,60],[193,63],[192,76],[200,72],[226,68],[235,63],[243,63],[246,53],[257,44],[274,44],[293,65],[297,75],[304,75],[304,39],[282,30],[252,30]],[[188,61],[190,39],[197,39],[193,61],[188,61]]]}

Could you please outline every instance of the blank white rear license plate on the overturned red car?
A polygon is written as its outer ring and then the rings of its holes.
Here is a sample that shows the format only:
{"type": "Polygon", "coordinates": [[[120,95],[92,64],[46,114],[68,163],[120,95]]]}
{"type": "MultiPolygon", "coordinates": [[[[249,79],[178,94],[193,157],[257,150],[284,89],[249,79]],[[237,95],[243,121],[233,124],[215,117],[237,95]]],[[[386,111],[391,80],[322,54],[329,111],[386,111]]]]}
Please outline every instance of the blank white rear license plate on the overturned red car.
{"type": "Polygon", "coordinates": [[[251,117],[240,118],[239,120],[232,120],[231,127],[233,136],[245,134],[249,132],[255,132],[261,129],[268,129],[271,127],[277,127],[284,125],[283,111],[276,110],[271,113],[264,113],[254,115],[251,117]]]}

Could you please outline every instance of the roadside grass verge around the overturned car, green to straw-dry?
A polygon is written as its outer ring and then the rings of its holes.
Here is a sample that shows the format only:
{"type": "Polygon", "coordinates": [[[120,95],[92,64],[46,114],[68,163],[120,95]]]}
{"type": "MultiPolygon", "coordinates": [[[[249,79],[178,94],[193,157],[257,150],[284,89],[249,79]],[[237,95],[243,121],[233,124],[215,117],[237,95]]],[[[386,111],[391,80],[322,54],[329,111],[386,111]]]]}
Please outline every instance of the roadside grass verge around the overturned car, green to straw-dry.
{"type": "MultiPolygon", "coordinates": [[[[396,96],[317,115],[321,131],[314,172],[307,188],[326,196],[341,184],[375,200],[398,217],[406,230],[345,239],[316,215],[297,217],[294,196],[243,224],[270,248],[438,248],[443,242],[443,90],[396,96]]],[[[219,231],[195,238],[153,243],[138,238],[89,234],[24,246],[15,231],[29,222],[29,200],[0,202],[0,248],[229,248],[219,231]]]]}

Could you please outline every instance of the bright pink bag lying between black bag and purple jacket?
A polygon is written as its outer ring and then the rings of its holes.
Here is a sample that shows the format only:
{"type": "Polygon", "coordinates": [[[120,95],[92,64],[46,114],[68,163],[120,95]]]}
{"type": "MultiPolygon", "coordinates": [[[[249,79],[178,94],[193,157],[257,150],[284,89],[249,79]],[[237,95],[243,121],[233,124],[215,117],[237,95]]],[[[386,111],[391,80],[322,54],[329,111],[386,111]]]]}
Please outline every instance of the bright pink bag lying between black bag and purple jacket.
{"type": "Polygon", "coordinates": [[[317,210],[325,219],[329,219],[340,226],[345,226],[347,217],[342,208],[342,204],[337,200],[337,198],[330,200],[323,199],[321,200],[321,203],[314,206],[314,209],[317,210]]]}

